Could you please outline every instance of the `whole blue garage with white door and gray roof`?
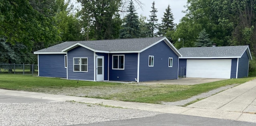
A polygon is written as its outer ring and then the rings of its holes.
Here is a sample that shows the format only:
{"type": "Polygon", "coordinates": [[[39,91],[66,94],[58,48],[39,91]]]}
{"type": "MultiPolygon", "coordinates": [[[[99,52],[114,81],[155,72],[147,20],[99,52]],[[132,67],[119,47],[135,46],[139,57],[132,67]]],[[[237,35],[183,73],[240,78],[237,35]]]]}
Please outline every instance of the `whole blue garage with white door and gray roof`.
{"type": "Polygon", "coordinates": [[[248,77],[249,60],[252,59],[248,45],[223,47],[185,47],[178,51],[179,75],[198,78],[248,77]]]}

